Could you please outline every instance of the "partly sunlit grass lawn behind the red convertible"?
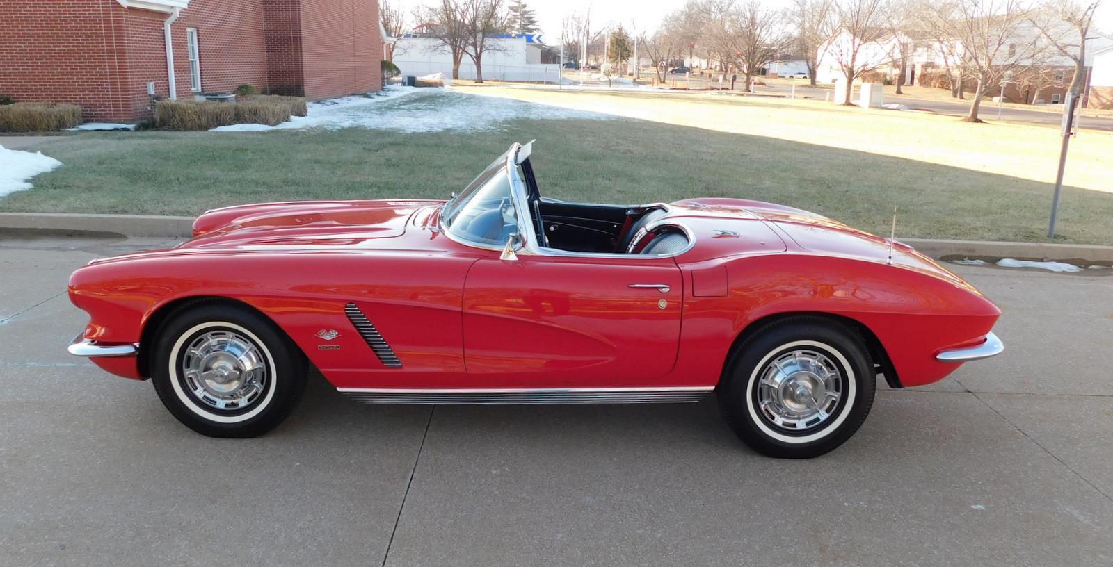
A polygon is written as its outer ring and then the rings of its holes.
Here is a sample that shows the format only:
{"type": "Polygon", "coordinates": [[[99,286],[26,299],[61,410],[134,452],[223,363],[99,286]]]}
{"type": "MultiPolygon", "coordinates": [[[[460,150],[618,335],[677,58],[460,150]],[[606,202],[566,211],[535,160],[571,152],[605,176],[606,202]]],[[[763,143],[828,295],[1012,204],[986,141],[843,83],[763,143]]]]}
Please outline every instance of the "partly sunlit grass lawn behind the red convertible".
{"type": "MultiPolygon", "coordinates": [[[[1041,152],[1057,155],[1058,148],[1050,128],[738,97],[469,91],[633,118],[518,119],[490,130],[423,133],[352,128],[60,137],[37,149],[65,166],[35,178],[33,190],[0,199],[0,210],[197,215],[268,200],[446,198],[512,141],[536,138],[542,191],[568,200],[740,197],[879,233],[888,232],[895,205],[898,237],[909,238],[1041,240],[1046,230],[1054,156],[1041,152]]],[[[431,92],[424,102],[435,108],[444,96],[431,92]]],[[[1075,140],[1061,241],[1113,245],[1110,156],[1113,136],[1087,132],[1075,140]]]]}

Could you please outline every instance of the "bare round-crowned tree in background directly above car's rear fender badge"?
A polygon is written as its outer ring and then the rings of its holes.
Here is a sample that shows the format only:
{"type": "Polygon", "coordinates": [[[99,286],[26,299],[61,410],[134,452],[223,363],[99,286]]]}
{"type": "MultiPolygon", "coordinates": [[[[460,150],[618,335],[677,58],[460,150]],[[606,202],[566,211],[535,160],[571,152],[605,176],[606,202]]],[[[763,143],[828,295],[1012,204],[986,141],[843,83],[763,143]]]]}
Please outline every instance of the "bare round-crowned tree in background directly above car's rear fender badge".
{"type": "MultiPolygon", "coordinates": [[[[766,9],[758,0],[730,4],[708,24],[707,37],[721,61],[733,64],[745,77],[745,90],[750,90],[754,76],[776,61],[789,47],[780,14],[766,9]]],[[[726,66],[723,66],[726,72],[726,66]]]]}

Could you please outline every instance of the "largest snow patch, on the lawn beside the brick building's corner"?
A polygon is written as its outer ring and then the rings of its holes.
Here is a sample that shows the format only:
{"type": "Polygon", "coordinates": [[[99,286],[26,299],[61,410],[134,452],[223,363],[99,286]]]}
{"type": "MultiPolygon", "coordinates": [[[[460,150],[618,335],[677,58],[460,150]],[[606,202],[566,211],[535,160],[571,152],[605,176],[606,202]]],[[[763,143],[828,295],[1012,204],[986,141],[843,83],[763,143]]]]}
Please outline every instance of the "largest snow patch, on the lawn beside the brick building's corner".
{"type": "Polygon", "coordinates": [[[303,128],[338,130],[368,128],[401,132],[489,130],[520,118],[571,120],[611,119],[609,115],[570,110],[535,102],[482,97],[451,89],[388,87],[384,94],[344,97],[311,102],[308,116],[278,126],[233,125],[213,131],[267,131],[303,128]]]}

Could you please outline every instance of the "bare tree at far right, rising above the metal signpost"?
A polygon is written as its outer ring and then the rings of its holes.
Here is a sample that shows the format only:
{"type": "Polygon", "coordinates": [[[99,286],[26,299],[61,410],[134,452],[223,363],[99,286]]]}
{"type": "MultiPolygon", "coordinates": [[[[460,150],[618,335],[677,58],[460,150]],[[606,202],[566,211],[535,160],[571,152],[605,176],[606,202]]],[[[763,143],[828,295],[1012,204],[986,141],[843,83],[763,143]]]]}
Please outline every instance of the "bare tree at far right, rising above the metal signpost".
{"type": "Polygon", "coordinates": [[[1074,77],[1067,90],[1075,97],[1085,80],[1086,39],[1100,3],[1101,0],[1045,0],[1028,18],[1058,54],[1074,62],[1074,77]]]}

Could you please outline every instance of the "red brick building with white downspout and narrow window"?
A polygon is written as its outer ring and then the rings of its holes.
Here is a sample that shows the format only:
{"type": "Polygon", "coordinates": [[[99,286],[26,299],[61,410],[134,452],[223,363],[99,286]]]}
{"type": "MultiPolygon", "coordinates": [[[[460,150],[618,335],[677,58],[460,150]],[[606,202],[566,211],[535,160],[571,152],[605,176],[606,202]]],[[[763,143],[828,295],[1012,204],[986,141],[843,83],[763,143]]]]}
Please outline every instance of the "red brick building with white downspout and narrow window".
{"type": "Polygon", "coordinates": [[[377,0],[3,0],[0,94],[134,121],[150,116],[148,83],[158,98],[367,92],[378,36],[377,0]]]}

